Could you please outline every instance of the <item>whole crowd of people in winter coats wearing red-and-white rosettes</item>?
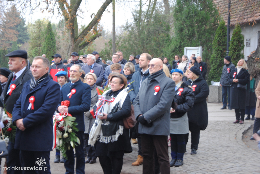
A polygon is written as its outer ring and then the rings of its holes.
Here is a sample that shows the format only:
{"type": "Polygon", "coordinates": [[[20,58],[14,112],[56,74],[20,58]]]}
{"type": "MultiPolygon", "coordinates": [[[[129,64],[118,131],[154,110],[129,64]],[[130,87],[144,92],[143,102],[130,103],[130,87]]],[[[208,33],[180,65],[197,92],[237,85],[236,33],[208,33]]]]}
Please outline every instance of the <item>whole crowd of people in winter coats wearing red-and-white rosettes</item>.
{"type": "MultiPolygon", "coordinates": [[[[70,147],[67,158],[63,158],[56,148],[54,159],[55,163],[64,163],[68,174],[75,170],[84,173],[85,164],[96,163],[97,157],[105,174],[119,174],[124,154],[132,152],[131,139],[132,143],[138,143],[137,159],[132,166],[142,164],[143,173],[166,174],[170,173],[170,167],[182,166],[189,131],[190,154],[197,153],[200,130],[205,130],[208,123],[207,64],[201,56],[191,55],[188,60],[186,55],[175,55],[172,65],[167,57],[152,58],[148,53],[130,55],[127,61],[122,51],[113,54],[112,61],[107,62],[97,51],[80,56],[73,52],[68,60],[55,54],[52,65],[45,55],[35,57],[30,65],[24,50],[6,56],[9,69],[0,68],[0,104],[12,113],[12,123],[17,126],[15,141],[8,143],[7,167],[31,167],[36,158],[44,158],[50,169],[55,113],[69,113],[76,118],[79,142],[75,150],[70,147]],[[99,112],[100,91],[109,100],[113,99],[102,113],[99,112]],[[137,123],[127,129],[123,120],[131,114],[131,107],[137,123]]],[[[243,59],[237,67],[229,56],[224,63],[220,80],[221,109],[226,106],[235,109],[234,123],[243,124],[245,114],[248,114],[246,119],[256,117],[256,133],[260,127],[257,114],[260,84],[254,90],[254,78],[250,79],[243,59]],[[254,93],[256,103],[252,101],[254,93]]],[[[37,172],[50,173],[50,170],[37,172]]]]}

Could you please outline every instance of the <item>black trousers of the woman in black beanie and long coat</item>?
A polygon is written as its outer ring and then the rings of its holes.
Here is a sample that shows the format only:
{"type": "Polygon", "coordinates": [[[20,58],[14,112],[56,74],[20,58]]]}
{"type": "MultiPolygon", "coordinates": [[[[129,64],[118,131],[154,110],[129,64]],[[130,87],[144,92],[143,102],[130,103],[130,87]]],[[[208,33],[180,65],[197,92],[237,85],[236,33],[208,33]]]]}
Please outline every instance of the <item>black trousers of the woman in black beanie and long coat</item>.
{"type": "MultiPolygon", "coordinates": [[[[191,149],[198,150],[200,128],[198,125],[189,122],[189,130],[191,131],[191,149]]],[[[184,138],[185,138],[185,144],[187,145],[189,140],[189,133],[185,134],[184,138]]]]}

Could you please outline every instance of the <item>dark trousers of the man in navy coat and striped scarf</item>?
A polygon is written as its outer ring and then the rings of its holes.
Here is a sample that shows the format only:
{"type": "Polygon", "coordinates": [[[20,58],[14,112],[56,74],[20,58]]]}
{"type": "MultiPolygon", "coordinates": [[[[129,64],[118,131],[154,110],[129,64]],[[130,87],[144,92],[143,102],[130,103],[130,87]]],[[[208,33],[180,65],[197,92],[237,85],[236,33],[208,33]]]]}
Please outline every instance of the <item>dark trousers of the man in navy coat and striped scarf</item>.
{"type": "Polygon", "coordinates": [[[22,170],[23,174],[50,173],[50,152],[49,151],[43,152],[43,151],[20,150],[20,162],[21,162],[21,167],[33,168],[33,170],[22,170]]]}

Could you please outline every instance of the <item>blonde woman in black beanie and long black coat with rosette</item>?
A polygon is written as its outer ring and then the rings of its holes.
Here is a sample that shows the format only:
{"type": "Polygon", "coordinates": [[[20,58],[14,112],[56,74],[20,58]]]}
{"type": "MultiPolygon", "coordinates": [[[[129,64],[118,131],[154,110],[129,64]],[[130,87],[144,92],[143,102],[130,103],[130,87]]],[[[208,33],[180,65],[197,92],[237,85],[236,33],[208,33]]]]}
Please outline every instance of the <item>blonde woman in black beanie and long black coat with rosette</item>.
{"type": "MultiPolygon", "coordinates": [[[[205,130],[208,125],[208,110],[206,98],[209,95],[209,87],[206,80],[200,75],[198,67],[191,67],[187,77],[187,83],[192,87],[195,101],[192,109],[188,112],[189,130],[191,131],[191,154],[197,154],[200,130],[205,130]]],[[[187,145],[189,133],[185,135],[187,145]]]]}

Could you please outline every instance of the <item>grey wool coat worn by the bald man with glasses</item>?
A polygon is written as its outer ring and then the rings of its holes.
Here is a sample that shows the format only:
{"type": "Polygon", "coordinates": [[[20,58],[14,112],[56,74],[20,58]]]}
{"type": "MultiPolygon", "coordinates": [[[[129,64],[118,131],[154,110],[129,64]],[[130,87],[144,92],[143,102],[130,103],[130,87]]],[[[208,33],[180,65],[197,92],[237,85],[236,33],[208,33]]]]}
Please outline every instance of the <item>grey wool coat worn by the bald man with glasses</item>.
{"type": "Polygon", "coordinates": [[[152,127],[139,123],[138,132],[150,135],[170,135],[170,108],[174,98],[175,82],[164,73],[151,79],[145,79],[134,100],[135,118],[143,114],[152,127]],[[154,95],[154,87],[159,86],[159,92],[154,95]]]}

